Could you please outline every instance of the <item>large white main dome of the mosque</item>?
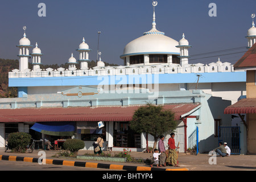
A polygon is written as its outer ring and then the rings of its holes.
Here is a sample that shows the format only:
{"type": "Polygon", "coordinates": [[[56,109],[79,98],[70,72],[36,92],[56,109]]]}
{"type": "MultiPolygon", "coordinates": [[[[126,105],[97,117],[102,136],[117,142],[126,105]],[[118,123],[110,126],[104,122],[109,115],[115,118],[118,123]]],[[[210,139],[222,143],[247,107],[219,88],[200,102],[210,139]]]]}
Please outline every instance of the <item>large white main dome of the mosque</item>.
{"type": "Polygon", "coordinates": [[[125,46],[123,50],[123,55],[128,54],[138,54],[138,53],[174,53],[179,55],[179,43],[165,36],[163,34],[157,34],[157,32],[152,34],[144,34],[143,36],[131,41],[125,46]]]}

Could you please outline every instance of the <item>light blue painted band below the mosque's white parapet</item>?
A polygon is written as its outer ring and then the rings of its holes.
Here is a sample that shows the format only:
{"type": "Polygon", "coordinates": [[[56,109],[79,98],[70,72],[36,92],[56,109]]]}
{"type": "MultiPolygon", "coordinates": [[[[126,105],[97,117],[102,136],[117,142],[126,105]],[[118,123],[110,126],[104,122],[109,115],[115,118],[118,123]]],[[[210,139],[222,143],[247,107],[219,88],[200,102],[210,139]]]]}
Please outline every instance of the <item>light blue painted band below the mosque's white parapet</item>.
{"type": "MultiPolygon", "coordinates": [[[[246,82],[246,72],[200,73],[200,83],[246,82]]],[[[33,77],[9,78],[9,86],[73,86],[99,84],[180,84],[196,83],[196,73],[169,73],[149,75],[114,75],[114,76],[68,76],[68,77],[33,77]]]]}

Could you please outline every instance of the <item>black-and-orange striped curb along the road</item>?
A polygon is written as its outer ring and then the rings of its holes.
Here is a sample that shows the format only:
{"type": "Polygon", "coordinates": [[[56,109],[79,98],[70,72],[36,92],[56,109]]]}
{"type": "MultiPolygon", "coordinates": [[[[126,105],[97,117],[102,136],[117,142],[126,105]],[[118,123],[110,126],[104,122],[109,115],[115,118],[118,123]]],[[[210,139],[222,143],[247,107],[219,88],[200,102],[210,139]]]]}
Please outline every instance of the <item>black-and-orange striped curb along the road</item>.
{"type": "MultiPolygon", "coordinates": [[[[43,162],[43,159],[40,159],[40,158],[27,158],[27,157],[9,156],[9,155],[0,155],[0,160],[31,162],[31,163],[43,162]]],[[[54,164],[54,165],[104,168],[104,169],[115,169],[115,170],[125,170],[125,171],[188,171],[187,168],[163,169],[163,168],[152,168],[152,167],[141,167],[141,166],[124,166],[124,165],[117,165],[117,164],[77,162],[77,161],[71,161],[71,160],[45,159],[45,162],[46,164],[54,164]]]]}

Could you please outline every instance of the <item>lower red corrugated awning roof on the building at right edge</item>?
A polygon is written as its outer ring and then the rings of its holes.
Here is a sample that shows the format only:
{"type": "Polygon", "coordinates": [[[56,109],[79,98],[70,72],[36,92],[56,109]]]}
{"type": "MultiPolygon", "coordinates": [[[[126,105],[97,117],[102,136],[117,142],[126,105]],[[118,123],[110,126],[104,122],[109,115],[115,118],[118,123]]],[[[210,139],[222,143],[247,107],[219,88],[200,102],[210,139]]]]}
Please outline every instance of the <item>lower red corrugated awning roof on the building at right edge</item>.
{"type": "Polygon", "coordinates": [[[252,114],[256,113],[256,98],[243,98],[235,104],[228,106],[224,114],[252,114]]]}

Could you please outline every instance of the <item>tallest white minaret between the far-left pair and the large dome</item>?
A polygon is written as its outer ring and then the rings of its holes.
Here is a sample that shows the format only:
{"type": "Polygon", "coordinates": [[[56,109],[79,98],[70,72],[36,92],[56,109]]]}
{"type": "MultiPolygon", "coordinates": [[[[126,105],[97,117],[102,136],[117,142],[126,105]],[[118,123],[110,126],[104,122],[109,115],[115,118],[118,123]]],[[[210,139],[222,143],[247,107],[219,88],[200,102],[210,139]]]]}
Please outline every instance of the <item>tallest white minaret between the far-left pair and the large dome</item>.
{"type": "Polygon", "coordinates": [[[80,62],[80,69],[88,69],[88,61],[89,60],[89,53],[92,49],[89,49],[88,44],[85,43],[85,39],[82,39],[82,43],[79,45],[79,49],[76,51],[80,52],[79,54],[79,61],[80,62]]]}

